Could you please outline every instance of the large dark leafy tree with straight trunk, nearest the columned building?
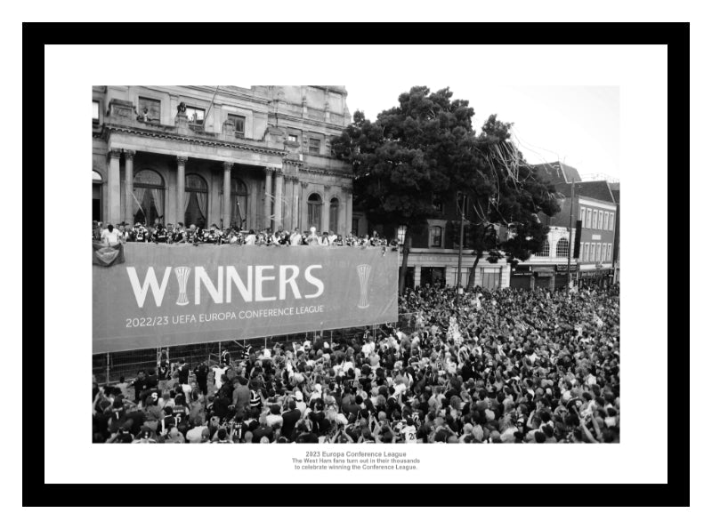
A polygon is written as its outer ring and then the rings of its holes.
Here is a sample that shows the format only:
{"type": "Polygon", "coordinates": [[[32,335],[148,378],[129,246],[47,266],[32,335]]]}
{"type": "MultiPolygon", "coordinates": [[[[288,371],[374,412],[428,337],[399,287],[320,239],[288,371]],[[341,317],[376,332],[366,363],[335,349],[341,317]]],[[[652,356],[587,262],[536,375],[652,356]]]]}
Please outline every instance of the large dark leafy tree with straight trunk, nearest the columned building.
{"type": "Polygon", "coordinates": [[[408,269],[410,230],[433,217],[433,194],[445,194],[453,180],[464,180],[473,161],[474,111],[467,101],[450,100],[449,89],[430,92],[414,86],[401,93],[400,106],[384,110],[371,123],[357,111],[341,137],[336,156],[352,162],[356,204],[376,222],[405,226],[399,292],[408,269]]]}

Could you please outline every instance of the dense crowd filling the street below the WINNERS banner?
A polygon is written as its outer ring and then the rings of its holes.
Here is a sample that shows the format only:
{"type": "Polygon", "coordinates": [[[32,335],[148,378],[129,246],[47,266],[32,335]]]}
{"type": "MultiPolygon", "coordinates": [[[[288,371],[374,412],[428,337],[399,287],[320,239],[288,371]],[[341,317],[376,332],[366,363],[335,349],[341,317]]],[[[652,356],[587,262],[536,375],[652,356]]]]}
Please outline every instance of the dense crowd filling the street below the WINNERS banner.
{"type": "Polygon", "coordinates": [[[93,383],[95,443],[618,443],[619,290],[408,290],[398,326],[93,383]]]}

